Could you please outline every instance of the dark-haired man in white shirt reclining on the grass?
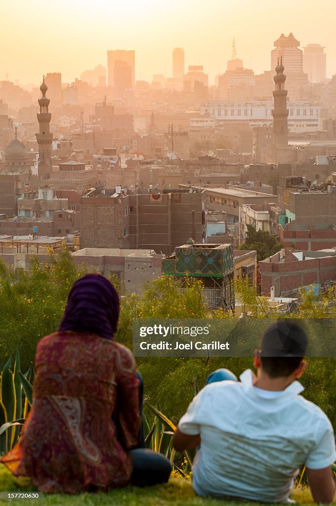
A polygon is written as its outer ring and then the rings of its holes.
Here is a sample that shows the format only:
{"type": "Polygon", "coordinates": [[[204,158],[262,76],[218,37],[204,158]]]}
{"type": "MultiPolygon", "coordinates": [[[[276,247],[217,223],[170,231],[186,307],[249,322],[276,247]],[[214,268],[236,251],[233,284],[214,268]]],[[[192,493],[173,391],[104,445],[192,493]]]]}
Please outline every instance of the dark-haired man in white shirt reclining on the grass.
{"type": "Polygon", "coordinates": [[[199,447],[193,462],[197,494],[287,502],[305,465],[314,500],[332,502],[332,426],[319,407],[299,395],[306,348],[299,325],[278,321],[256,352],[257,376],[250,369],[240,382],[226,369],[209,376],[173,437],[178,451],[199,447]]]}

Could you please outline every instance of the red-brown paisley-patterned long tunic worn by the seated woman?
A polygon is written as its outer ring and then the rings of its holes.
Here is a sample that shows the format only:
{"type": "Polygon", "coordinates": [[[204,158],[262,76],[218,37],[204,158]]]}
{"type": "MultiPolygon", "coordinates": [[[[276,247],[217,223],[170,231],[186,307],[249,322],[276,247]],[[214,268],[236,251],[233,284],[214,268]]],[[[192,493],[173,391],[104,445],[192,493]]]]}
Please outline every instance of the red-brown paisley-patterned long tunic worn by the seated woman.
{"type": "Polygon", "coordinates": [[[42,492],[128,484],[138,442],[138,379],[127,348],[96,334],[58,331],[36,350],[33,405],[1,461],[42,492]]]}

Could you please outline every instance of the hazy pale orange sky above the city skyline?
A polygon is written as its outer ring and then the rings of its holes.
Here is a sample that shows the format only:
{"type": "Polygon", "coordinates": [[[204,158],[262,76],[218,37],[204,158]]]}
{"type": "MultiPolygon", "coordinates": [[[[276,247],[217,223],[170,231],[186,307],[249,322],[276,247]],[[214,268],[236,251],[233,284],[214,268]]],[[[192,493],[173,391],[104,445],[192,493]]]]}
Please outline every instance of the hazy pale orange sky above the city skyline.
{"type": "Polygon", "coordinates": [[[109,49],[136,50],[136,79],[172,75],[172,49],[187,65],[204,65],[210,83],[226,70],[235,36],[237,56],[256,73],[270,70],[280,33],[301,47],[325,46],[327,76],[336,73],[335,0],[2,0],[0,80],[39,82],[62,72],[106,66],[109,49]]]}

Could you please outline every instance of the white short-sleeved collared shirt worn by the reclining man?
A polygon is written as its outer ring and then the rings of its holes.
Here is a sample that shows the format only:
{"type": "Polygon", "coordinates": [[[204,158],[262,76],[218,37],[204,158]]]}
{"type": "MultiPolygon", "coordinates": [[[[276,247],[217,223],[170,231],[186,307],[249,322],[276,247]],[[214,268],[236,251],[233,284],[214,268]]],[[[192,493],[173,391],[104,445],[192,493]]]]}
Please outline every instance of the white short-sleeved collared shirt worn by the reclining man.
{"type": "Polygon", "coordinates": [[[298,381],[265,397],[253,386],[250,369],[240,380],[207,385],[180,420],[181,432],[201,437],[193,462],[194,490],[286,502],[303,464],[322,469],[336,460],[331,423],[298,395],[304,390],[298,381]]]}

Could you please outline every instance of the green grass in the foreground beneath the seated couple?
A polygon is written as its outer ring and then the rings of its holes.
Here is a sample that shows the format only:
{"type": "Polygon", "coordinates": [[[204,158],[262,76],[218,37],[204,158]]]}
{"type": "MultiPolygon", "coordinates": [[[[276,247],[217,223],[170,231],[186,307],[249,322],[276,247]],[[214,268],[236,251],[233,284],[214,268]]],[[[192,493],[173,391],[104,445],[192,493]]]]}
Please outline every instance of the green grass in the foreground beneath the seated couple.
{"type": "MultiPolygon", "coordinates": [[[[29,479],[16,479],[4,466],[0,465],[0,492],[28,492],[36,490],[29,479]]],[[[292,498],[304,504],[314,504],[308,489],[296,489],[292,498]]],[[[111,490],[107,493],[80,495],[53,494],[44,495],[42,499],[0,499],[1,506],[258,506],[257,502],[220,501],[201,498],[195,495],[191,481],[183,478],[172,478],[165,485],[149,488],[126,487],[111,490]]]]}

